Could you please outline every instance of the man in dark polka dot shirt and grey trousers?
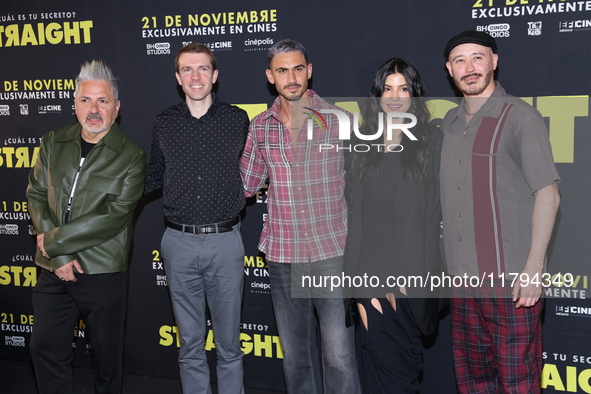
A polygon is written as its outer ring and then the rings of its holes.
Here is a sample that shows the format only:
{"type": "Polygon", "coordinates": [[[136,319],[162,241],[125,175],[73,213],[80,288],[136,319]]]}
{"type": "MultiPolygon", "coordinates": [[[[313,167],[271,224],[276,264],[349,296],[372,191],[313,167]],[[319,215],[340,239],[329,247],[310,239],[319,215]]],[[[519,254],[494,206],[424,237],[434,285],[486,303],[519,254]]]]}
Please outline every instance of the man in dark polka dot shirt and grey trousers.
{"type": "Polygon", "coordinates": [[[220,393],[244,393],[240,306],[244,247],[239,214],[245,199],[239,160],[248,116],[212,92],[218,70],[211,51],[188,44],[176,55],[185,100],[154,122],[146,193],[162,188],[167,229],[162,256],[181,335],[183,393],[210,393],[205,303],[217,351],[220,393]]]}

